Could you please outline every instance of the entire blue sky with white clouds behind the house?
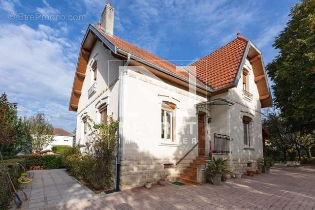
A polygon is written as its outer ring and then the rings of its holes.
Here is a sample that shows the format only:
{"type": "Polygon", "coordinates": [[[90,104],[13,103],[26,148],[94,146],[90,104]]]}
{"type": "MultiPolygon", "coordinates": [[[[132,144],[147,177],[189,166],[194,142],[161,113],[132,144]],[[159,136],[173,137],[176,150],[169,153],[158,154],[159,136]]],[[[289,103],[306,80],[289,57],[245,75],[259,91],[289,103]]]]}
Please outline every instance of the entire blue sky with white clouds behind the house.
{"type": "MultiPolygon", "coordinates": [[[[236,37],[250,38],[265,64],[297,0],[111,0],[114,33],[166,60],[198,60],[236,37]]],[[[76,61],[105,0],[0,0],[0,92],[20,116],[44,112],[73,131],[68,111],[76,61]],[[74,20],[75,19],[75,20],[74,20]]],[[[189,62],[189,61],[187,61],[189,62]]],[[[185,63],[184,63],[185,64],[185,63]]]]}

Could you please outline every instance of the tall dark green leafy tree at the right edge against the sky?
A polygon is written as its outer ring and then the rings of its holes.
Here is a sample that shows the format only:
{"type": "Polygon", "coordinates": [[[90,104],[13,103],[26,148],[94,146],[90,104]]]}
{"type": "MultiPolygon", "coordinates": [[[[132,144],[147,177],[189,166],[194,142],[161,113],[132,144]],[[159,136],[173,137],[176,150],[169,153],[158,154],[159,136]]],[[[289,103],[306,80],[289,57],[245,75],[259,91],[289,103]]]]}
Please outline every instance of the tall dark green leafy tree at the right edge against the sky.
{"type": "Polygon", "coordinates": [[[315,130],[315,0],[302,0],[289,14],[273,47],[279,55],[267,65],[275,83],[275,105],[294,130],[315,130]]]}

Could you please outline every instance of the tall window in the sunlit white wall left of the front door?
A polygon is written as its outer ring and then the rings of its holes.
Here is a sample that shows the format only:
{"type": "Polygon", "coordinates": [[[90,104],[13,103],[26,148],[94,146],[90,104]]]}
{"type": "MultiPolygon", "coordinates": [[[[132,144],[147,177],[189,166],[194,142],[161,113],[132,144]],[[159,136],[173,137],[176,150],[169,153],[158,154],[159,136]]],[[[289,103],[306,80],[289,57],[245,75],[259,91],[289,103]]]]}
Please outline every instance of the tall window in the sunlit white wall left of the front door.
{"type": "Polygon", "coordinates": [[[161,110],[161,138],[164,141],[174,142],[176,105],[167,101],[162,102],[161,110]]]}

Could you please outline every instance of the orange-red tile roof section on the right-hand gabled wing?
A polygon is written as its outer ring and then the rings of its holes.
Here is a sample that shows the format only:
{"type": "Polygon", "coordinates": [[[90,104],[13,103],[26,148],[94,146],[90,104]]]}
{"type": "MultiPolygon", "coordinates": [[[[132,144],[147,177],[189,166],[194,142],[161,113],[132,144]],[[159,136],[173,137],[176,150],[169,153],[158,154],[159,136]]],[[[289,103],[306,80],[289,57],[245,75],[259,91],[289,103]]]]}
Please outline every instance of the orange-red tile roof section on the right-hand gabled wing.
{"type": "Polygon", "coordinates": [[[234,82],[248,39],[238,37],[208,56],[194,62],[191,72],[203,83],[217,90],[234,82]]]}

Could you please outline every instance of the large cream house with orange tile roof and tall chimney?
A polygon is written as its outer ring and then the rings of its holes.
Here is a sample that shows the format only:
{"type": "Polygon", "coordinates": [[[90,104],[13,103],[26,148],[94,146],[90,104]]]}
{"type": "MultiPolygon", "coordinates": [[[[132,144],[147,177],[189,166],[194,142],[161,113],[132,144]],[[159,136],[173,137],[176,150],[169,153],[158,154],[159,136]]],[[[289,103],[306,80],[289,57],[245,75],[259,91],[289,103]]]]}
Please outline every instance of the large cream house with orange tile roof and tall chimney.
{"type": "MultiPolygon", "coordinates": [[[[81,44],[69,110],[84,151],[87,115],[119,119],[116,188],[169,180],[202,182],[204,160],[229,159],[233,172],[263,156],[260,109],[272,105],[260,50],[237,38],[189,66],[175,66],[114,35],[114,8],[89,25],[81,44]]],[[[191,56],[194,57],[194,56],[191,56]]]]}

